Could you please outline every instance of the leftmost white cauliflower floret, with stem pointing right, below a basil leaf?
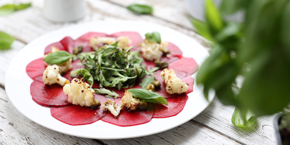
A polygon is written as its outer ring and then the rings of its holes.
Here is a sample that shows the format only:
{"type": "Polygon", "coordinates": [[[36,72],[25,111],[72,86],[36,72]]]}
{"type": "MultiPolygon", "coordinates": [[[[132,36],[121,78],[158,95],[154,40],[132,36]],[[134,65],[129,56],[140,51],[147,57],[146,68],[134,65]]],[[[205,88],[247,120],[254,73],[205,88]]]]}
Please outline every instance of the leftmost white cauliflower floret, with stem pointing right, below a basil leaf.
{"type": "Polygon", "coordinates": [[[68,79],[62,77],[60,75],[61,68],[58,65],[47,66],[42,74],[42,79],[45,85],[52,84],[60,84],[64,86],[65,84],[69,84],[70,81],[68,79]]]}

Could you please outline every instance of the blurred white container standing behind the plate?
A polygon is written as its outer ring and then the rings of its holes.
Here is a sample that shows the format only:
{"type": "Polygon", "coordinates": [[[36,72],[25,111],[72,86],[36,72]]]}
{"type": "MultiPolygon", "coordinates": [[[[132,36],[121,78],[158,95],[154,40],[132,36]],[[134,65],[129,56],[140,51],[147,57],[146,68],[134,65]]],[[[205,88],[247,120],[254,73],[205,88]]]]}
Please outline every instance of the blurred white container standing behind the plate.
{"type": "Polygon", "coordinates": [[[85,16],[84,0],[45,0],[44,16],[54,22],[76,21],[85,16]]]}

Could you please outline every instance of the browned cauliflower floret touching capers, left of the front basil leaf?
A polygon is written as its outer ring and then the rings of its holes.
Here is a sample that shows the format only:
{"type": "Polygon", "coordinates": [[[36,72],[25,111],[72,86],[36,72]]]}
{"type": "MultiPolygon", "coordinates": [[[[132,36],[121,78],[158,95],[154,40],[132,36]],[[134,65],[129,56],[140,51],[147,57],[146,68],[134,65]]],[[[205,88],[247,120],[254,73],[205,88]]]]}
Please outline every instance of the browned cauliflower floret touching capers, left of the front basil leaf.
{"type": "Polygon", "coordinates": [[[128,110],[135,110],[138,108],[138,105],[140,104],[139,99],[134,99],[132,94],[125,90],[125,95],[122,97],[122,103],[124,104],[124,107],[128,110]]]}

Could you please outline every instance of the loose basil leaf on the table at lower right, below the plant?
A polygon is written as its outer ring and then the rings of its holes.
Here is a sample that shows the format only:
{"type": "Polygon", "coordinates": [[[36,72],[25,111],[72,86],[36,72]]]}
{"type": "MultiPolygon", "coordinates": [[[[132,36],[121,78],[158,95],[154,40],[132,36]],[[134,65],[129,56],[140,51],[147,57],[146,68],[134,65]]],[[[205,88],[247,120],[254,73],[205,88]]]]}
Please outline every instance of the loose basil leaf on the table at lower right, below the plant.
{"type": "Polygon", "coordinates": [[[242,117],[240,110],[236,107],[232,116],[232,123],[234,126],[246,127],[254,124],[256,119],[257,116],[254,115],[250,110],[246,112],[245,117],[242,117]],[[243,118],[246,119],[246,122],[244,122],[243,118]]]}

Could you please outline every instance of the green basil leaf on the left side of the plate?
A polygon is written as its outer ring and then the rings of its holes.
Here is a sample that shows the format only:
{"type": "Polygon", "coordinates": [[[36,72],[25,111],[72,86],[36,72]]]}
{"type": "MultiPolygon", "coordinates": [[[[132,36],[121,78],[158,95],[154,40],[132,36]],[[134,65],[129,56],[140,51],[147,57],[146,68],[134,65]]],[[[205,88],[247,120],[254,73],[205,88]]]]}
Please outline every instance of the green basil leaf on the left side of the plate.
{"type": "Polygon", "coordinates": [[[70,58],[75,57],[76,55],[71,55],[68,52],[61,50],[57,52],[53,52],[50,55],[44,57],[44,61],[48,64],[62,64],[66,61],[68,61],[70,58]]]}

